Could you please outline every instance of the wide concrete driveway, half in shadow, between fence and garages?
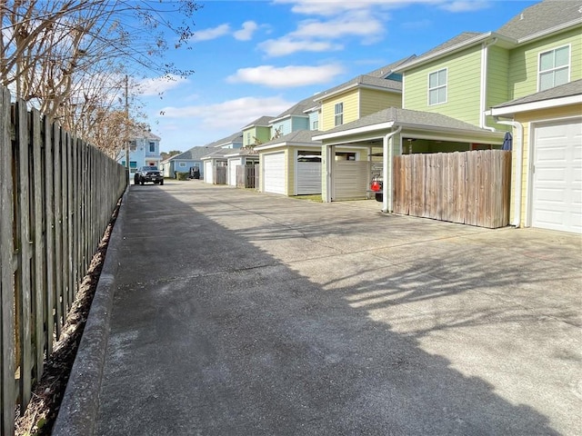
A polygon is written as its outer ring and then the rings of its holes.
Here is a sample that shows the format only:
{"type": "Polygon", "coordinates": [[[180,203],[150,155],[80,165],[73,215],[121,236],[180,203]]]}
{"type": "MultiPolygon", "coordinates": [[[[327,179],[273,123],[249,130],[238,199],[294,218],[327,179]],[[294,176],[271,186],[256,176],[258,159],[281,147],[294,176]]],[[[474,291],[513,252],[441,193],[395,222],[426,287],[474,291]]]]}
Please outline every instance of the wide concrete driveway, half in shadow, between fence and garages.
{"type": "Polygon", "coordinates": [[[579,235],[200,181],[120,220],[95,434],[582,433],[579,235]]]}

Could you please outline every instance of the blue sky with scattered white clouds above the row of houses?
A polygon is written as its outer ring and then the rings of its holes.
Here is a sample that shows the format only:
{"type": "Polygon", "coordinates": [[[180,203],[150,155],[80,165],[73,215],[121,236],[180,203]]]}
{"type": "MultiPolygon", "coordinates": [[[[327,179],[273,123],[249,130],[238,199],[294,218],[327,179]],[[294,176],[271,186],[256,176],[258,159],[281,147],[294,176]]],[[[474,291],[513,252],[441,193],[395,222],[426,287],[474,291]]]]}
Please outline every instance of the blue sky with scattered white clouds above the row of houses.
{"type": "Polygon", "coordinates": [[[161,151],[186,151],[277,115],[309,95],[462,32],[495,31],[536,1],[206,1],[190,49],[168,57],[195,74],[142,83],[161,151]]]}

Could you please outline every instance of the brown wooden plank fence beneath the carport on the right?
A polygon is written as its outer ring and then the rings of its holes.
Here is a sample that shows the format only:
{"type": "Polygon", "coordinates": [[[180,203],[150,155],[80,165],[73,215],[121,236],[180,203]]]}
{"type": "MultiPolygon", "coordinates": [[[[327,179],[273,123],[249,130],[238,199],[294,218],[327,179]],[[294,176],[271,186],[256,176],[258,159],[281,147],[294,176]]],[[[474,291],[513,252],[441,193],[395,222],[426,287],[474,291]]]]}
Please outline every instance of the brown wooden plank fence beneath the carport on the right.
{"type": "Polygon", "coordinates": [[[394,212],[497,228],[509,223],[511,153],[395,157],[394,212]]]}

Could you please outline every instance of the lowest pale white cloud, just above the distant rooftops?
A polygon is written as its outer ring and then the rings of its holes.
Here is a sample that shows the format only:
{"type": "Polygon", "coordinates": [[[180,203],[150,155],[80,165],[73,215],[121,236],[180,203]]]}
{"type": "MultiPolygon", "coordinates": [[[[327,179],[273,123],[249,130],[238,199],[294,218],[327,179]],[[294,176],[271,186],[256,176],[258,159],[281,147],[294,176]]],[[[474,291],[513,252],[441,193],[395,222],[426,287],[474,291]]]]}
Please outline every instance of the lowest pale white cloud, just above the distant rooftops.
{"type": "Polygon", "coordinates": [[[168,106],[161,112],[166,119],[188,118],[189,123],[197,122],[204,129],[226,129],[235,133],[256,118],[281,114],[295,103],[281,97],[242,97],[217,104],[168,106]]]}

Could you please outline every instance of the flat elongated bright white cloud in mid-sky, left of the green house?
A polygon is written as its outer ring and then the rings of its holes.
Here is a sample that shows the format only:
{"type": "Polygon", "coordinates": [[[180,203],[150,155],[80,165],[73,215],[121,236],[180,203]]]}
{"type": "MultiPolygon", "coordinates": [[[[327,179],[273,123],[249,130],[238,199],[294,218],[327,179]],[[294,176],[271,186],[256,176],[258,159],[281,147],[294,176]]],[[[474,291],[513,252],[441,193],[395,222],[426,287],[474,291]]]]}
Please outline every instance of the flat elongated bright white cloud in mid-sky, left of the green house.
{"type": "Polygon", "coordinates": [[[261,65],[254,68],[240,68],[226,80],[230,83],[263,84],[272,88],[326,84],[344,69],[337,64],[321,66],[290,65],[276,67],[261,65]]]}

